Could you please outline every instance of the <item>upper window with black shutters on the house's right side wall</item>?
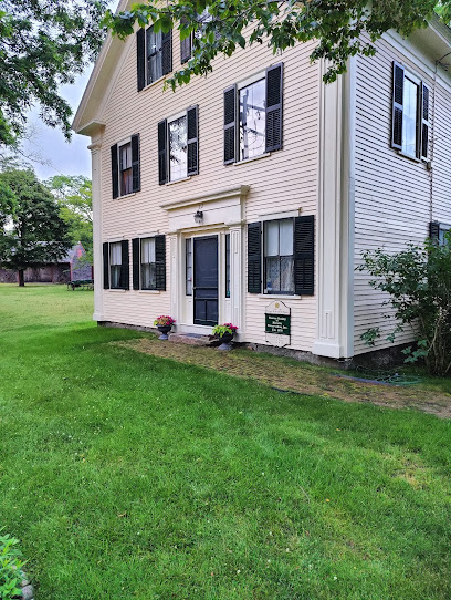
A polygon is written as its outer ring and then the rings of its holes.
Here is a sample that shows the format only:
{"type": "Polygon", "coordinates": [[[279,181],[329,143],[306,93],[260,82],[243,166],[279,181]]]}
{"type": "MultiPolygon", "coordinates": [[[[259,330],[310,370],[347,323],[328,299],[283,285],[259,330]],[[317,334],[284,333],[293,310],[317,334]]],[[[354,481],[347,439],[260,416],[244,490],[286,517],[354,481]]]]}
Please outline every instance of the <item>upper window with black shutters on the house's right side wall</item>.
{"type": "Polygon", "coordinates": [[[391,146],[411,158],[428,159],[429,89],[394,62],[391,146]]]}

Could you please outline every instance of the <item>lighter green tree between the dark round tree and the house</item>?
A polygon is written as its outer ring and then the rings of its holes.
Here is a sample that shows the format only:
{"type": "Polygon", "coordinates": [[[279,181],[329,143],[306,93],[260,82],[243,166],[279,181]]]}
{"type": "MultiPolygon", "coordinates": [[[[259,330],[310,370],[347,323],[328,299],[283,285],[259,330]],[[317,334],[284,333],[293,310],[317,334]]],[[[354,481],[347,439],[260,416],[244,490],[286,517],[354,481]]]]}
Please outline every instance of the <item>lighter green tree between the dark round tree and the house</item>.
{"type": "Polygon", "coordinates": [[[92,184],[83,175],[55,175],[44,185],[60,205],[60,216],[69,227],[73,245],[82,242],[86,260],[92,261],[93,250],[93,196],[92,184]]]}

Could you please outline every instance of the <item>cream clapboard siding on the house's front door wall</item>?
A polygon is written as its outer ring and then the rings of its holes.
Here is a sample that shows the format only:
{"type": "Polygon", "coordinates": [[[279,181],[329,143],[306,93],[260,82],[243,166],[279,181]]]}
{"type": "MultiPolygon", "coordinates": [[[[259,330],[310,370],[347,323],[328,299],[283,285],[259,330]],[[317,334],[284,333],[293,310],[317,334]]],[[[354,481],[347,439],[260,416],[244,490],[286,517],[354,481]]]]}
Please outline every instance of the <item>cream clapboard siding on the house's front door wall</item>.
{"type": "MultiPolygon", "coordinates": [[[[174,68],[179,68],[180,48],[174,32],[174,68]]],[[[250,186],[244,218],[256,219],[266,213],[294,210],[315,214],[318,180],[319,70],[310,63],[312,44],[298,44],[274,56],[265,45],[239,50],[232,58],[218,58],[213,72],[195,77],[175,93],[164,91],[162,82],[136,90],[135,41],[127,41],[125,58],[118,64],[115,84],[104,114],[106,123],[102,146],[102,206],[104,240],[132,239],[146,232],[168,232],[168,215],[160,208],[166,201],[190,198],[238,185],[250,186]],[[241,165],[223,165],[223,90],[240,80],[284,63],[283,149],[241,165]],[[162,118],[199,106],[199,175],[176,184],[158,185],[157,124],[162,118]],[[141,190],[112,199],[109,147],[140,135],[141,190]]],[[[245,247],[245,242],[244,242],[245,247]]],[[[132,255],[132,252],[130,252],[132,255]]],[[[169,239],[167,237],[167,257],[169,239]]],[[[169,313],[170,261],[167,259],[167,291],[115,292],[105,290],[104,317],[108,321],[150,327],[156,315],[169,313]]],[[[132,256],[130,256],[132,269],[132,256]]],[[[132,271],[130,271],[132,272],[132,271]]],[[[244,281],[247,273],[244,272],[244,281]]],[[[270,297],[247,294],[245,339],[264,340],[264,307],[270,297]]],[[[286,300],[292,308],[292,346],[310,351],[315,339],[316,303],[314,297],[286,300]]]]}

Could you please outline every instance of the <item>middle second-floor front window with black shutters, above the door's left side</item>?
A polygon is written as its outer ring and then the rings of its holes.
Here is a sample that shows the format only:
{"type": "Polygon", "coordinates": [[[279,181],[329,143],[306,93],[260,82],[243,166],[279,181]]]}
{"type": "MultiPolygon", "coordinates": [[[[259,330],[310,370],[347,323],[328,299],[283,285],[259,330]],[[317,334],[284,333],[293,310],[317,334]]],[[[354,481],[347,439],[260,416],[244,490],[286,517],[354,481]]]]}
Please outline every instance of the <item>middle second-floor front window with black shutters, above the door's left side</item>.
{"type": "Polygon", "coordinates": [[[177,182],[199,173],[198,106],[158,123],[158,180],[177,182]]]}

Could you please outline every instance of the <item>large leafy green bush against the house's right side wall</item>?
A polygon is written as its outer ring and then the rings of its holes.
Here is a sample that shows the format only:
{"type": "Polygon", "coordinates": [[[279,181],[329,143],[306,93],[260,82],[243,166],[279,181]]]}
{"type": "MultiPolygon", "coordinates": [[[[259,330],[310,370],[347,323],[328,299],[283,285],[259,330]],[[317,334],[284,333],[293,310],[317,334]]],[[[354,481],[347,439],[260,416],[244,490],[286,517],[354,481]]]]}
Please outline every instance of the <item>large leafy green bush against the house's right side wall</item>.
{"type": "MultiPolygon", "coordinates": [[[[403,350],[406,362],[424,359],[430,374],[444,376],[451,369],[451,235],[443,245],[427,240],[409,244],[406,250],[388,254],[382,249],[363,252],[357,270],[368,271],[369,285],[385,291],[382,306],[395,311],[394,329],[387,340],[394,342],[406,327],[412,328],[416,344],[403,350]]],[[[361,339],[369,345],[380,337],[380,328],[368,329],[361,339]]]]}

